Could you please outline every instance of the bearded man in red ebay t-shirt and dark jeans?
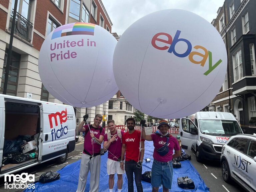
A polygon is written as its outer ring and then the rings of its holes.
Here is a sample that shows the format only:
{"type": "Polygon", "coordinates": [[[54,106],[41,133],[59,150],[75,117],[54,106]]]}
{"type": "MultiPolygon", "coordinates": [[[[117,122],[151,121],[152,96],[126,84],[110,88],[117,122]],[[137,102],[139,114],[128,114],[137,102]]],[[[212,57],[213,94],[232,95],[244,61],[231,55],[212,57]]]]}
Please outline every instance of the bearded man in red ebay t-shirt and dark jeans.
{"type": "Polygon", "coordinates": [[[126,120],[128,132],[122,137],[121,169],[125,170],[128,180],[128,192],[133,192],[133,173],[137,192],[143,192],[141,184],[142,162],[144,157],[144,139],[141,132],[134,129],[134,118],[126,120]],[[125,167],[124,167],[125,154],[125,167]]]}

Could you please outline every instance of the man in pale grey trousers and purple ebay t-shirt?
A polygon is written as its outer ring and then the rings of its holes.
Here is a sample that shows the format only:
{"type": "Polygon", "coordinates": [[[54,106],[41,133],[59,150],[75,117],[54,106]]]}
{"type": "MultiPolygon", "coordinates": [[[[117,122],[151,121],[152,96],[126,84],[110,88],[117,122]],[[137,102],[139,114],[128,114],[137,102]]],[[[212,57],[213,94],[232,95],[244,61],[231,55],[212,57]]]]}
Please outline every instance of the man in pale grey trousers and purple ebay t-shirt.
{"type": "MultiPolygon", "coordinates": [[[[86,115],[85,115],[86,116],[86,115]]],[[[94,123],[90,126],[84,125],[87,117],[78,127],[79,132],[85,132],[84,136],[84,152],[81,158],[78,186],[76,192],[84,192],[86,180],[90,171],[90,192],[99,191],[100,181],[100,149],[104,139],[105,129],[100,126],[102,115],[97,114],[94,123]]]]}

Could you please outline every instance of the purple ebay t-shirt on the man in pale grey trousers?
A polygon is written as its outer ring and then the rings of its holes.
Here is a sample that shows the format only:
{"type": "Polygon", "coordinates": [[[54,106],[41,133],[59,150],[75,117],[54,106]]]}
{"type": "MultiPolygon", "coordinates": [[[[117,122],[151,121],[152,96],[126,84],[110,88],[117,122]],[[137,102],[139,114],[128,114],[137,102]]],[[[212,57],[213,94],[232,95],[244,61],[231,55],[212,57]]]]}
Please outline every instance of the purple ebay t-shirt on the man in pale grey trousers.
{"type": "MultiPolygon", "coordinates": [[[[84,128],[87,130],[89,129],[88,125],[85,125],[84,128]]],[[[99,139],[100,135],[105,135],[105,129],[102,128],[102,131],[100,133],[100,126],[98,128],[90,128],[91,131],[93,131],[94,136],[99,139]]],[[[92,138],[90,135],[90,130],[86,133],[86,135],[84,136],[84,149],[89,152],[91,155],[93,153],[99,153],[100,152],[100,148],[101,145],[99,145],[95,140],[93,140],[93,144],[92,144],[92,138]]],[[[85,152],[83,152],[85,153],[85,152]]]]}

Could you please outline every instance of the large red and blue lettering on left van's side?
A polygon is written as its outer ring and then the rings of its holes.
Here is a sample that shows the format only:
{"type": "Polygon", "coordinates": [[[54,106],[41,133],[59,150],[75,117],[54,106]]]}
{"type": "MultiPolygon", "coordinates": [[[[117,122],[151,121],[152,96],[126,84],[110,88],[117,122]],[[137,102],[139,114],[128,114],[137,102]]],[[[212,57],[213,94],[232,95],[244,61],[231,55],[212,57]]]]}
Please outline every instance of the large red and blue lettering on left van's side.
{"type": "Polygon", "coordinates": [[[62,123],[65,123],[68,119],[67,108],[65,111],[51,113],[50,115],[48,115],[48,117],[50,122],[52,141],[59,139],[68,133],[68,126],[62,125],[62,123]],[[56,129],[53,128],[53,120],[54,120],[54,125],[56,129]],[[58,124],[58,120],[60,122],[60,125],[58,124]]]}

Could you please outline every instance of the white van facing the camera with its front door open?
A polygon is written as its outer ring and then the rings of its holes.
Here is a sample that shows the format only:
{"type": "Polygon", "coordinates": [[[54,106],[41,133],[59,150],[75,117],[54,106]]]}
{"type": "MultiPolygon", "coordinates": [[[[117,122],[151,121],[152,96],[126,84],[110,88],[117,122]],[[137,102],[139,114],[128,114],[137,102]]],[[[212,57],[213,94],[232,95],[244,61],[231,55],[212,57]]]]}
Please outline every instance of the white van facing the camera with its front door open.
{"type": "Polygon", "coordinates": [[[183,149],[196,152],[196,160],[220,161],[221,148],[232,135],[243,134],[236,118],[226,112],[197,112],[180,119],[183,149]]]}

